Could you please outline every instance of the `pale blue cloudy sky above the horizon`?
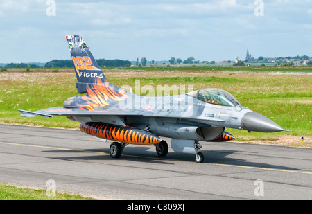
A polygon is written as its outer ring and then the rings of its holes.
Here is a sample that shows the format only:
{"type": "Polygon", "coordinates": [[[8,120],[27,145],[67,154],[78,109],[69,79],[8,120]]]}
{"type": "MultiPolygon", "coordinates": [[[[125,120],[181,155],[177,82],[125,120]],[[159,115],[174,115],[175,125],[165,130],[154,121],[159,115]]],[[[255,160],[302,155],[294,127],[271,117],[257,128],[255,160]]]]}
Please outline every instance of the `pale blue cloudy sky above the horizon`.
{"type": "Polygon", "coordinates": [[[0,63],[70,60],[65,35],[107,60],[312,56],[312,0],[0,0],[0,29],[0,63]]]}

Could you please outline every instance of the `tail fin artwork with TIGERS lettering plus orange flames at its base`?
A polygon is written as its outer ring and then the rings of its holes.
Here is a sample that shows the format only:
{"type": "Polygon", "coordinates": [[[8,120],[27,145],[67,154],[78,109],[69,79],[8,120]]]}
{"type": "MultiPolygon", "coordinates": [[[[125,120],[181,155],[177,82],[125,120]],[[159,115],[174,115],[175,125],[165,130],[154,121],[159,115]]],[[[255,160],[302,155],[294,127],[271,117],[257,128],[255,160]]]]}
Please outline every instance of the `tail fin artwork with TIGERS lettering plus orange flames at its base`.
{"type": "Polygon", "coordinates": [[[71,105],[93,111],[95,107],[111,105],[127,96],[127,91],[110,84],[80,35],[66,36],[76,71],[78,96],[71,105]]]}

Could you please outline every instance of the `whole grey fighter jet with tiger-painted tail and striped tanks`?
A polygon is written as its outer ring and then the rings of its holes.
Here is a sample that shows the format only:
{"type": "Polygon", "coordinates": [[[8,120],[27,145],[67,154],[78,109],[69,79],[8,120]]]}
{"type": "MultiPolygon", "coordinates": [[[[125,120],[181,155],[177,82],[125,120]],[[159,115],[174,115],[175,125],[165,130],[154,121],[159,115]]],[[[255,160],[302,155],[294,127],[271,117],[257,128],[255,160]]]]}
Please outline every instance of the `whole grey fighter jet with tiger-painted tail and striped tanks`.
{"type": "Polygon", "coordinates": [[[174,96],[137,96],[132,91],[108,82],[83,37],[66,36],[76,71],[80,96],[64,101],[63,107],[29,112],[21,116],[66,116],[81,123],[87,134],[114,141],[110,156],[119,158],[125,145],[155,145],[159,156],[166,156],[171,138],[175,152],[195,154],[204,161],[199,141],[229,141],[232,134],[225,127],[248,132],[287,131],[270,119],[243,107],[222,89],[200,89],[174,96]]]}

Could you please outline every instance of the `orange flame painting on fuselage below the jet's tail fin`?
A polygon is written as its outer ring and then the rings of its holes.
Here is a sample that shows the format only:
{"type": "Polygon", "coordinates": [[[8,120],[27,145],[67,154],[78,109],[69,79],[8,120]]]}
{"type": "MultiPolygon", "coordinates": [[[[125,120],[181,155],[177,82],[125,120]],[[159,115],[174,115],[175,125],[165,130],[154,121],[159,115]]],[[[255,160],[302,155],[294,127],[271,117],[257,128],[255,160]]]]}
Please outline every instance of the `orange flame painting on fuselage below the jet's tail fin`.
{"type": "Polygon", "coordinates": [[[114,85],[108,82],[94,82],[94,84],[87,84],[87,94],[80,96],[76,100],[76,105],[80,109],[93,111],[94,107],[104,107],[111,105],[114,101],[122,100],[127,97],[127,91],[124,89],[117,89],[114,85]],[[91,87],[90,87],[91,85],[91,87]]]}

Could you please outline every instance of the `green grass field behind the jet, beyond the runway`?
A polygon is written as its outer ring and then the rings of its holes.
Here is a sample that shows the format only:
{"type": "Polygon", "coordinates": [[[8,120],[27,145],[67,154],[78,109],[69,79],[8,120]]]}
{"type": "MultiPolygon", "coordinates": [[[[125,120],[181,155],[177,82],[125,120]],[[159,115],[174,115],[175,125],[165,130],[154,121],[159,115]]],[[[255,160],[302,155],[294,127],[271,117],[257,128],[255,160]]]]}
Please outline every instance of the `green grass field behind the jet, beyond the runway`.
{"type": "MultiPolygon", "coordinates": [[[[112,84],[128,85],[132,89],[135,88],[135,80],[140,80],[141,87],[150,85],[155,89],[157,85],[165,84],[177,87],[185,84],[193,90],[224,89],[232,93],[241,105],[272,119],[284,129],[293,131],[266,134],[228,129],[237,141],[277,141],[286,136],[296,136],[293,140],[296,142],[290,143],[301,146],[300,138],[304,136],[302,146],[311,148],[311,67],[261,67],[261,70],[252,68],[251,71],[250,68],[234,67],[137,69],[139,68],[104,69],[104,73],[112,84]],[[274,72],[268,72],[271,70],[274,72]]],[[[65,117],[22,118],[17,112],[18,109],[35,111],[61,107],[68,97],[76,96],[76,75],[73,69],[23,71],[8,69],[0,72],[0,123],[77,128],[80,123],[69,121],[65,117]]]]}

